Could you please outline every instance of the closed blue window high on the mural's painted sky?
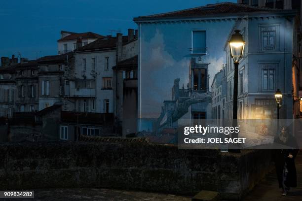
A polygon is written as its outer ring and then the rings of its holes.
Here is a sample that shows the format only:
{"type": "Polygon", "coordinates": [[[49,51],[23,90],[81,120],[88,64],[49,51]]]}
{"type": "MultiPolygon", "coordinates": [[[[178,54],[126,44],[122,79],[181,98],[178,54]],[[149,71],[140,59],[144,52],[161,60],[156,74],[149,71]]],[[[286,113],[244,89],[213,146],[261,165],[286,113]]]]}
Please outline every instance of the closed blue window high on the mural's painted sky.
{"type": "Polygon", "coordinates": [[[206,53],[206,32],[193,31],[192,32],[192,54],[205,54],[206,53]]]}

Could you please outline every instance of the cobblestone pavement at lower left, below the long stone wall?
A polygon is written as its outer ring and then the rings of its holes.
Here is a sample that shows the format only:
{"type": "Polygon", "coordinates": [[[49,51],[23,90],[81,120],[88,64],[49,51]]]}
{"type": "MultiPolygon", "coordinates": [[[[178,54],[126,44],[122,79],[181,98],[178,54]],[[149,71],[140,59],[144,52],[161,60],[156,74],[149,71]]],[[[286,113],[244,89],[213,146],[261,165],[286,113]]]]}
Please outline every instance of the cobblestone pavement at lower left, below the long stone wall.
{"type": "Polygon", "coordinates": [[[0,199],[0,201],[190,201],[189,197],[112,189],[35,190],[35,199],[0,199]]]}

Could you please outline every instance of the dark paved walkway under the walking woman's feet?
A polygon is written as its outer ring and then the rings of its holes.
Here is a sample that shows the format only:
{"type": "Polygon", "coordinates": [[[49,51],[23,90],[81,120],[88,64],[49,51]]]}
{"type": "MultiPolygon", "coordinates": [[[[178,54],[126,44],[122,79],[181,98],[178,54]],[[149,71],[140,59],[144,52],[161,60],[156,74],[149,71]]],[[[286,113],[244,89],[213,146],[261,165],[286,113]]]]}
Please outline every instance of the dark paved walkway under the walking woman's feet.
{"type": "Polygon", "coordinates": [[[254,190],[243,200],[244,201],[302,201],[302,153],[296,158],[297,188],[291,189],[287,196],[281,195],[278,188],[276,172],[268,174],[254,190]]]}

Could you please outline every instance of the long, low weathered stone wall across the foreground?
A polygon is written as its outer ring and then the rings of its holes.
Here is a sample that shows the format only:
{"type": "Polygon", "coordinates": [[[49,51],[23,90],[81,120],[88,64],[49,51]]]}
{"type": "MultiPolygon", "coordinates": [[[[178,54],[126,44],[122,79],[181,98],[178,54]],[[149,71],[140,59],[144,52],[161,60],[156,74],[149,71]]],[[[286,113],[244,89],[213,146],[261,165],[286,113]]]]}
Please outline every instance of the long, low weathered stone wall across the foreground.
{"type": "Polygon", "coordinates": [[[102,187],[182,195],[212,190],[238,200],[266,173],[264,152],[240,155],[143,142],[5,143],[0,190],[102,187]]]}

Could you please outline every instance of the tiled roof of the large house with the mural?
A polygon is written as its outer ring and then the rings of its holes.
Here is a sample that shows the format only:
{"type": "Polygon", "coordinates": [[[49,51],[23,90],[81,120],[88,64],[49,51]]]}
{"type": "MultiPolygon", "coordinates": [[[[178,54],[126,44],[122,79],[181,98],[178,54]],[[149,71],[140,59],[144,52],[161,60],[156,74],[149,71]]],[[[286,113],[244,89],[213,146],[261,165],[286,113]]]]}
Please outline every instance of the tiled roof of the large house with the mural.
{"type": "Polygon", "coordinates": [[[240,14],[240,13],[246,14],[250,12],[255,13],[255,12],[276,12],[276,11],[288,12],[289,10],[250,6],[246,4],[237,4],[233,2],[221,2],[215,4],[207,4],[195,8],[178,10],[174,12],[139,16],[134,18],[134,21],[149,20],[149,19],[164,19],[164,18],[208,17],[208,16],[232,15],[232,14],[240,14]]]}

